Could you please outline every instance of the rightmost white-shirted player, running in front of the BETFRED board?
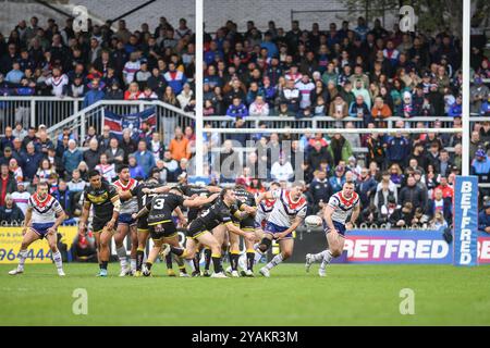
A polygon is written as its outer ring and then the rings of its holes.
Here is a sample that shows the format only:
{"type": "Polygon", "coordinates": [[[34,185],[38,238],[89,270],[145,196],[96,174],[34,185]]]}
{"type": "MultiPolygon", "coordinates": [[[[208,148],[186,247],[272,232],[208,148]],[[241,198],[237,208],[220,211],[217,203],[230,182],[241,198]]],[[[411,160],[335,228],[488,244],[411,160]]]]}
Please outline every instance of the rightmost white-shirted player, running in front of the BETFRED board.
{"type": "Polygon", "coordinates": [[[359,196],[354,191],[354,183],[347,182],[341,191],[330,197],[323,210],[323,227],[327,234],[328,248],[319,253],[306,254],[306,272],[309,272],[315,261],[321,260],[318,274],[326,276],[327,265],[333,258],[342,254],[345,231],[353,228],[359,216],[359,196]]]}

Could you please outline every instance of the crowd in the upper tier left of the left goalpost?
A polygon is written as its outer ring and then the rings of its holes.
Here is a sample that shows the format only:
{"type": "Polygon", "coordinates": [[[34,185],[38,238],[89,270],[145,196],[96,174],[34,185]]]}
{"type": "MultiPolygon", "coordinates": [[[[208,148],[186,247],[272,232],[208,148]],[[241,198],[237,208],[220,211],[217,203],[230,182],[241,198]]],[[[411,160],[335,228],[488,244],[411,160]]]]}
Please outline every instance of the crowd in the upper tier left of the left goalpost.
{"type": "MultiPolygon", "coordinates": [[[[60,28],[36,16],[21,21],[8,37],[0,33],[0,95],[101,99],[159,99],[185,111],[195,105],[195,35],[185,18],[166,17],[130,32],[124,20],[75,33],[73,20],[60,28]]],[[[1,108],[0,108],[1,109],[1,108]]]]}

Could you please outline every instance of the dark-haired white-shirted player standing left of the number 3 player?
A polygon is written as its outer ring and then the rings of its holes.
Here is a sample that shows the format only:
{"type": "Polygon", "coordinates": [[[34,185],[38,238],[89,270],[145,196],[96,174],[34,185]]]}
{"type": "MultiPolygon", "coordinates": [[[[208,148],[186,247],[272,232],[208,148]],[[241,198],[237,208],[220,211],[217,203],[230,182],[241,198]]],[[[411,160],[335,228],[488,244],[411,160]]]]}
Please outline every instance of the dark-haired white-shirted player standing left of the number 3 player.
{"type": "Polygon", "coordinates": [[[136,272],[136,253],[138,248],[137,221],[131,215],[138,212],[136,197],[132,197],[133,190],[138,182],[131,177],[130,167],[122,164],[118,167],[119,179],[113,184],[121,199],[121,210],[118,220],[118,231],[114,235],[115,251],[121,263],[119,276],[133,275],[136,272]],[[127,251],[124,238],[131,237],[131,266],[127,265],[127,251]]]}

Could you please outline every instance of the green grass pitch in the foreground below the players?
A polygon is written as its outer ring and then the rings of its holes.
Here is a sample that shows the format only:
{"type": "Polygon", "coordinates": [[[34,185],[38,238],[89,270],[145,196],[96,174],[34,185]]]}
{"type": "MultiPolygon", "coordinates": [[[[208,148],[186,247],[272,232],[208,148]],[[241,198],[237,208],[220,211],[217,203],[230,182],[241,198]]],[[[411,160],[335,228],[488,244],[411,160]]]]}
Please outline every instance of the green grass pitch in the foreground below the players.
{"type": "Polygon", "coordinates": [[[490,268],[450,265],[281,264],[270,278],[95,276],[97,264],[0,265],[0,325],[490,325],[490,268]],[[73,314],[73,291],[88,295],[88,314],[73,314]],[[402,288],[415,291],[415,314],[402,315],[402,288]]]}

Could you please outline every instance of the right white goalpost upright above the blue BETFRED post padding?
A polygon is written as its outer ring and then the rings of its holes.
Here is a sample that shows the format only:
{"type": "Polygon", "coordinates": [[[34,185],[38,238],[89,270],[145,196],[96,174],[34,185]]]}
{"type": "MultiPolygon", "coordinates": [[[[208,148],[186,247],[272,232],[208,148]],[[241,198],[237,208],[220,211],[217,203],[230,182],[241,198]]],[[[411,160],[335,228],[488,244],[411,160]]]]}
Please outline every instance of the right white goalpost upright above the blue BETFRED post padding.
{"type": "Polygon", "coordinates": [[[471,0],[463,0],[463,161],[462,174],[469,175],[469,52],[471,0]]]}

